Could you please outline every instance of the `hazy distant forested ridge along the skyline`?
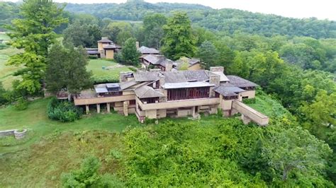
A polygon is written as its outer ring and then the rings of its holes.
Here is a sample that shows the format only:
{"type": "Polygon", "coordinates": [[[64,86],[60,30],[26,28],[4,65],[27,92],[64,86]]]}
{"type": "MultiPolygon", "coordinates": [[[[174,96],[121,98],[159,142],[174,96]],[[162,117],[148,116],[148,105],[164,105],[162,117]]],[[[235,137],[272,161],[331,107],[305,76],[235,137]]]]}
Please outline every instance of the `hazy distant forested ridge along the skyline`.
{"type": "MultiPolygon", "coordinates": [[[[11,6],[17,5],[11,4],[11,6]]],[[[67,4],[65,10],[71,13],[88,13],[96,16],[99,20],[133,21],[142,20],[145,16],[153,13],[172,16],[173,11],[185,11],[188,13],[193,25],[217,30],[226,33],[226,35],[243,32],[267,37],[273,35],[288,35],[289,37],[307,36],[314,38],[336,37],[336,22],[334,20],[285,18],[230,8],[215,10],[197,4],[150,4],[145,1],[127,1],[124,4],[67,4]]],[[[0,20],[11,20],[11,17],[15,17],[16,15],[15,11],[4,15],[0,13],[0,20]]]]}

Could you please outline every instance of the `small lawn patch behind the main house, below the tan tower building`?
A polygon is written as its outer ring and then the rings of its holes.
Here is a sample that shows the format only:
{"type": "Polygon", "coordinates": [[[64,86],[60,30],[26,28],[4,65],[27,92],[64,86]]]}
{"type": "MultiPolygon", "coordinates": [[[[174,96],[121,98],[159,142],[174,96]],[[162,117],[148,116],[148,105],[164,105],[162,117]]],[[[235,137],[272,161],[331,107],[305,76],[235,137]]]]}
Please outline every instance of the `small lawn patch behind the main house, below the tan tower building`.
{"type": "Polygon", "coordinates": [[[104,59],[90,59],[87,69],[92,71],[95,80],[118,80],[121,71],[130,71],[128,66],[118,64],[116,61],[104,59]]]}

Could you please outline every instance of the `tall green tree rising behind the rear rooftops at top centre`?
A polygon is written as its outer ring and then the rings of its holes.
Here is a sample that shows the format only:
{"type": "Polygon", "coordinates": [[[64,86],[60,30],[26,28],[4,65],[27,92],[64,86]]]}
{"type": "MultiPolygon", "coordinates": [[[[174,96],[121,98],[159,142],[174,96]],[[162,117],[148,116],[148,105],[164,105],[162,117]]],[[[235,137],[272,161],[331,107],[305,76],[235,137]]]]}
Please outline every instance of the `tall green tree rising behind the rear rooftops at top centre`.
{"type": "Polygon", "coordinates": [[[196,52],[195,38],[192,35],[191,20],[186,13],[174,13],[164,25],[164,46],[162,52],[171,59],[193,57],[196,52]]]}

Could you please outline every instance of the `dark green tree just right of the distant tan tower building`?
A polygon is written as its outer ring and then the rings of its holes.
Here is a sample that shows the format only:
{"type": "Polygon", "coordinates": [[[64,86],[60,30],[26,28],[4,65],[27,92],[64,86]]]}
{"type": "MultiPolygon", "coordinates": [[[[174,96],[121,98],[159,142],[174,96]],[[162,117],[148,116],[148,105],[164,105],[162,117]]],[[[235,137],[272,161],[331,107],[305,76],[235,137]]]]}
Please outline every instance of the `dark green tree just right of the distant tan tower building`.
{"type": "Polygon", "coordinates": [[[118,61],[121,61],[123,64],[138,66],[140,62],[139,57],[140,52],[135,46],[135,38],[129,38],[126,40],[123,49],[121,49],[121,58],[118,58],[118,61]]]}

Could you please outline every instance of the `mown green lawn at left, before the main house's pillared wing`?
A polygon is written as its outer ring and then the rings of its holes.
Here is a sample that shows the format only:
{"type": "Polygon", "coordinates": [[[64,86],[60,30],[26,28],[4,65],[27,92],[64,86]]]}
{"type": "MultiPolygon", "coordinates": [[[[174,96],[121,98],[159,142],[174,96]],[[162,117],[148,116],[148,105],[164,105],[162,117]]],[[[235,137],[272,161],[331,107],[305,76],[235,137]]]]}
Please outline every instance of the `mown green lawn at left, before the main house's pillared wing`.
{"type": "Polygon", "coordinates": [[[18,146],[0,147],[1,153],[8,153],[27,148],[43,136],[55,131],[85,131],[106,130],[122,131],[125,127],[139,125],[135,115],[124,117],[121,114],[91,114],[76,122],[61,123],[48,119],[46,110],[49,99],[35,100],[28,105],[27,110],[18,111],[13,106],[0,108],[0,130],[6,129],[30,129],[34,136],[26,143],[18,146]]]}

